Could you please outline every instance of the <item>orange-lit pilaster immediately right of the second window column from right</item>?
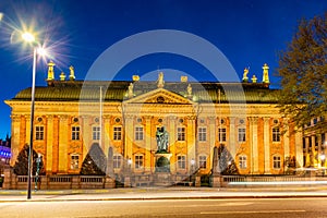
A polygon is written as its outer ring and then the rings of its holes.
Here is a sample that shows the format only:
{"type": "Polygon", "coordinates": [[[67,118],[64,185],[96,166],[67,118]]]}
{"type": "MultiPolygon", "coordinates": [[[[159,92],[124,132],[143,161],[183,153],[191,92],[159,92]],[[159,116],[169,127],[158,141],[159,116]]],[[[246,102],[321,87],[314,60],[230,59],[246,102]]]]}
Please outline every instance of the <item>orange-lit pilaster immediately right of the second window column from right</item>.
{"type": "Polygon", "coordinates": [[[252,154],[252,169],[251,172],[254,174],[258,173],[258,149],[257,149],[257,117],[250,118],[250,129],[252,133],[252,146],[251,146],[251,154],[252,154]]]}

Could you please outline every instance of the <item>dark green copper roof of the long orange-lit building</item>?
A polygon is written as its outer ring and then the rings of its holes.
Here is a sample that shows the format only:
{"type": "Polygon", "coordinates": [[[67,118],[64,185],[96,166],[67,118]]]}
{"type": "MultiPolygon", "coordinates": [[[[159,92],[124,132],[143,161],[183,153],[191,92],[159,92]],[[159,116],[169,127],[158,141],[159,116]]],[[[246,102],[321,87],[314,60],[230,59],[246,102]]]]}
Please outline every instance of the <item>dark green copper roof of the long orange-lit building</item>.
{"type": "MultiPolygon", "coordinates": [[[[131,82],[131,81],[53,81],[48,86],[39,86],[35,89],[36,101],[97,101],[100,96],[100,87],[104,90],[104,101],[123,101],[130,83],[134,84],[134,94],[140,96],[157,88],[156,82],[131,82]],[[105,92],[106,89],[106,92],[105,92]]],[[[244,92],[246,102],[252,104],[275,104],[277,102],[277,89],[270,89],[264,83],[216,83],[216,82],[191,82],[177,83],[166,82],[165,89],[181,96],[186,96],[186,87],[191,84],[192,95],[197,97],[198,102],[218,102],[219,89],[221,90],[220,101],[227,102],[227,95],[230,101],[242,101],[244,92]]],[[[21,90],[13,101],[31,101],[31,88],[21,90]]]]}

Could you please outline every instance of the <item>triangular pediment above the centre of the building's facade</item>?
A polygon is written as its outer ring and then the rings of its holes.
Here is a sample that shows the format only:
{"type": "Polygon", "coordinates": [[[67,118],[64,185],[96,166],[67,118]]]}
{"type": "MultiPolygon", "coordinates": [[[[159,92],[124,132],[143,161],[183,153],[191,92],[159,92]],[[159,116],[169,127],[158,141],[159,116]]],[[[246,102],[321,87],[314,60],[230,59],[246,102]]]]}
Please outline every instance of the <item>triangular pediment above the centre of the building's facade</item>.
{"type": "Polygon", "coordinates": [[[124,101],[125,104],[171,104],[171,105],[190,105],[192,100],[167,90],[157,88],[124,101]]]}

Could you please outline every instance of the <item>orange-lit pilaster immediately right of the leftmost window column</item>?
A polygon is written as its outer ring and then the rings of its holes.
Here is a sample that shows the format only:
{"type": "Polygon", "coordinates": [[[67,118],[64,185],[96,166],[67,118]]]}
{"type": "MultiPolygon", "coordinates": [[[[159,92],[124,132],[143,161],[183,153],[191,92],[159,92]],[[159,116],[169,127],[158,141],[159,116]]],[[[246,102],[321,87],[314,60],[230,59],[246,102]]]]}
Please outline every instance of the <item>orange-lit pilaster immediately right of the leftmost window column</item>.
{"type": "MultiPolygon", "coordinates": [[[[47,116],[47,149],[46,149],[46,172],[52,173],[52,148],[53,148],[53,116],[47,116]]],[[[56,158],[56,157],[55,157],[56,158]]]]}

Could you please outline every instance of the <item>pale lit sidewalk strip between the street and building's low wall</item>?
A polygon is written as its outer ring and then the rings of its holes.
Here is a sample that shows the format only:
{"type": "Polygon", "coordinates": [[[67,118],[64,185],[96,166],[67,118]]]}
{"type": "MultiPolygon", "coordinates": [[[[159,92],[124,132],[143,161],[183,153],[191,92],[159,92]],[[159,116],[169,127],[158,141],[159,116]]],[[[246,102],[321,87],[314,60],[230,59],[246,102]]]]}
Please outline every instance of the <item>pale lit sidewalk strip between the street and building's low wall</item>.
{"type": "Polygon", "coordinates": [[[58,201],[147,201],[198,198],[327,197],[327,186],[307,187],[130,187],[110,190],[0,190],[0,203],[58,201]]]}

